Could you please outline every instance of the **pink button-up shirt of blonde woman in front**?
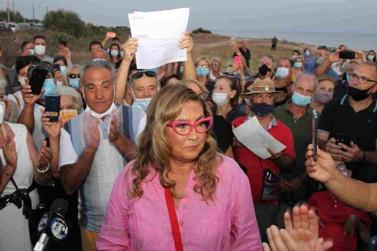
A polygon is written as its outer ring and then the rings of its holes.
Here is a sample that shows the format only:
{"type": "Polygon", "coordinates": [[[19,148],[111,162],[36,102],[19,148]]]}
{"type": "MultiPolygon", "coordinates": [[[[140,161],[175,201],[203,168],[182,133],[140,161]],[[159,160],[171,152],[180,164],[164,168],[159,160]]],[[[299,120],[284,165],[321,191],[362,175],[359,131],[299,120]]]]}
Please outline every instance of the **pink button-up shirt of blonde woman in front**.
{"type": "MultiPolygon", "coordinates": [[[[176,209],[183,249],[262,250],[247,176],[231,158],[217,167],[219,183],[214,202],[195,193],[190,174],[185,197],[176,209]]],[[[164,188],[152,169],[142,183],[143,196],[127,196],[134,178],[133,162],[115,181],[106,217],[97,240],[98,250],[175,250],[164,188]]]]}

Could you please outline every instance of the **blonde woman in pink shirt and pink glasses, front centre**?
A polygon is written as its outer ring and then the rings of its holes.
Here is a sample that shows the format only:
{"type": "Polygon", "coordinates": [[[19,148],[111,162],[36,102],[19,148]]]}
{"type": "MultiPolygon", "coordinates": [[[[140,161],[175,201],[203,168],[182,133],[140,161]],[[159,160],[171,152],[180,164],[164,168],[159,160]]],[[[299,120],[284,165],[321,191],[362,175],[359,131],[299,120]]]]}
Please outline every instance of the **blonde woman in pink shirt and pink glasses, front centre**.
{"type": "Polygon", "coordinates": [[[141,154],[114,184],[97,249],[262,250],[248,178],[217,152],[204,101],[167,86],[147,113],[141,154]]]}

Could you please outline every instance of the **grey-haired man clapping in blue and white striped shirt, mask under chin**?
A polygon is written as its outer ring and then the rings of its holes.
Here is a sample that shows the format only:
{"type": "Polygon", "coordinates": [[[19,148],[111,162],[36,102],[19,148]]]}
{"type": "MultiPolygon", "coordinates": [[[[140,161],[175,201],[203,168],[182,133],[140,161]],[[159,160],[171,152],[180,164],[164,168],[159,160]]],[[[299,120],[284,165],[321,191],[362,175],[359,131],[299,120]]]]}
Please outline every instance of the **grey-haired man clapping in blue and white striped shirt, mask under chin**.
{"type": "Polygon", "coordinates": [[[107,61],[82,66],[85,113],[61,131],[61,182],[68,194],[78,190],[82,250],[95,250],[113,183],[127,161],[137,157],[135,142],[146,114],[133,106],[116,106],[114,67],[107,61]]]}

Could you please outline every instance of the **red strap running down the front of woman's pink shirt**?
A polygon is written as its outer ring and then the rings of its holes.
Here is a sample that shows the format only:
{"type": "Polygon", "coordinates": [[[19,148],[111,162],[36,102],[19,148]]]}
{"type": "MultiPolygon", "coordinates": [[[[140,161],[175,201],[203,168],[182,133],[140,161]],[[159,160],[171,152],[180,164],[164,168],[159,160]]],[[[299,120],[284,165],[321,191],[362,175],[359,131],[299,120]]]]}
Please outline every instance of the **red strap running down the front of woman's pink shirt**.
{"type": "Polygon", "coordinates": [[[164,190],[165,190],[166,205],[167,205],[168,211],[169,211],[170,225],[172,227],[175,250],[176,251],[183,251],[181,232],[179,231],[178,219],[177,219],[177,214],[175,212],[173,196],[172,196],[172,193],[170,192],[169,188],[164,187],[164,190]]]}

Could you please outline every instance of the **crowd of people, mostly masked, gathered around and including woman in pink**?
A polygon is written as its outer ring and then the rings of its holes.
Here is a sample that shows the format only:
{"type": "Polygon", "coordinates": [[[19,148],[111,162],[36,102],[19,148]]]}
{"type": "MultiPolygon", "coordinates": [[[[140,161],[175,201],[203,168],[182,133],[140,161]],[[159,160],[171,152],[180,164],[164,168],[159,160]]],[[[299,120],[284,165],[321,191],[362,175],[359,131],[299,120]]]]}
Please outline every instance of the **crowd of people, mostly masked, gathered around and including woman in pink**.
{"type": "Polygon", "coordinates": [[[87,62],[72,62],[66,41],[50,57],[46,40],[22,42],[14,66],[0,65],[1,250],[31,250],[27,211],[56,198],[72,225],[51,250],[364,250],[377,235],[373,50],[257,59],[232,40],[223,66],[194,59],[185,32],[185,62],[138,69],[136,38],[92,41],[87,62]],[[58,122],[45,112],[51,94],[58,122]],[[261,145],[262,158],[235,136],[255,118],[282,151],[261,145]]]}

